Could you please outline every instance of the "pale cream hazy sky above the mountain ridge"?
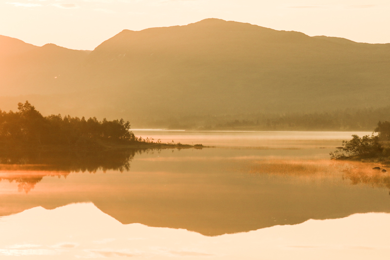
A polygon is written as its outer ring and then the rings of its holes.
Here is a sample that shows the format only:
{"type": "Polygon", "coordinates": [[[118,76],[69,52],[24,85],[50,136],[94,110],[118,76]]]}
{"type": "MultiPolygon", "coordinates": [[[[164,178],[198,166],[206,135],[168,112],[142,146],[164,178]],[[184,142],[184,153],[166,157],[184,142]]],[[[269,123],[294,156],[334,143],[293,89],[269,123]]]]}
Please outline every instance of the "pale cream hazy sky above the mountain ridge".
{"type": "Polygon", "coordinates": [[[206,18],[390,42],[390,0],[0,0],[0,35],[71,49],[92,50],[123,29],[206,18]]]}

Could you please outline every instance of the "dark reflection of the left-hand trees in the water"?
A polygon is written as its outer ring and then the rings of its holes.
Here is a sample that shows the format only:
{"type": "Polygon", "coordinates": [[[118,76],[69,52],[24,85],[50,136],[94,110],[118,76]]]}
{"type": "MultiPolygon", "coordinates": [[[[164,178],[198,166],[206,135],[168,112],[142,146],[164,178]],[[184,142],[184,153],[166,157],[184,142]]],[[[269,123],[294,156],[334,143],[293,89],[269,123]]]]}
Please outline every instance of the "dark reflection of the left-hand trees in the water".
{"type": "Polygon", "coordinates": [[[9,152],[0,154],[0,181],[18,183],[19,191],[28,193],[44,176],[64,176],[71,172],[102,170],[129,171],[137,153],[147,149],[123,149],[78,154],[74,152],[9,152]]]}

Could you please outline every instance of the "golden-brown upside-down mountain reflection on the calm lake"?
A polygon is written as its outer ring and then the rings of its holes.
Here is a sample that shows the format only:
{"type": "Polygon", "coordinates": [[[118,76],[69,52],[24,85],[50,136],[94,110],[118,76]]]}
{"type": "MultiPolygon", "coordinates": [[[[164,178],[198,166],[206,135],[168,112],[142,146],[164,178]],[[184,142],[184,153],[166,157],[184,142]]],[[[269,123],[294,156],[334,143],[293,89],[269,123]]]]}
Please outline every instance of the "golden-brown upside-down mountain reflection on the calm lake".
{"type": "Polygon", "coordinates": [[[220,235],[308,219],[390,212],[387,190],[351,186],[349,181],[343,182],[343,171],[337,167],[330,168],[316,181],[325,166],[316,169],[314,164],[303,162],[274,162],[267,166],[265,160],[260,165],[263,172],[248,174],[247,168],[237,173],[237,164],[230,159],[168,160],[171,152],[161,153],[166,157],[156,154],[148,155],[148,160],[134,160],[132,170],[126,174],[71,174],[65,182],[57,183],[57,178],[51,178],[47,186],[39,184],[28,197],[21,192],[0,195],[0,215],[35,206],[53,209],[75,202],[93,202],[124,224],[220,235]],[[289,167],[294,174],[284,173],[289,167]]]}

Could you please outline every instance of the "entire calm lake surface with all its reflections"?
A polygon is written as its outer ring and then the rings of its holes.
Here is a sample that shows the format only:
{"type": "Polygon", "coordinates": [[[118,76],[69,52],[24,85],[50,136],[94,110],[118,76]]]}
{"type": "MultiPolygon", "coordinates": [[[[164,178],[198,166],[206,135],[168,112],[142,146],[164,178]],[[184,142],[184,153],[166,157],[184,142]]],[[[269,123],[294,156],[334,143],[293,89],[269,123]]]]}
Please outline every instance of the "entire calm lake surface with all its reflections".
{"type": "Polygon", "coordinates": [[[209,148],[3,158],[0,258],[388,259],[390,175],[329,156],[370,133],[134,133],[209,148]]]}

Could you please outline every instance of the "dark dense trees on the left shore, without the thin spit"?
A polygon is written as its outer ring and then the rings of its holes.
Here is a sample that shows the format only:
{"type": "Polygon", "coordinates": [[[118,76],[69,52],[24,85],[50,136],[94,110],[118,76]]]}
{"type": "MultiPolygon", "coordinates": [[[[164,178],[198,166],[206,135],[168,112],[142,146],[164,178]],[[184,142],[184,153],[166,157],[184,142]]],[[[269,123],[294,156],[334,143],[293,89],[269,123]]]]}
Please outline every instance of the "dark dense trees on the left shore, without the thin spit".
{"type": "Polygon", "coordinates": [[[0,111],[2,147],[66,146],[98,148],[103,144],[145,142],[130,131],[123,119],[98,121],[95,117],[43,116],[28,101],[18,104],[18,111],[0,111]]]}

